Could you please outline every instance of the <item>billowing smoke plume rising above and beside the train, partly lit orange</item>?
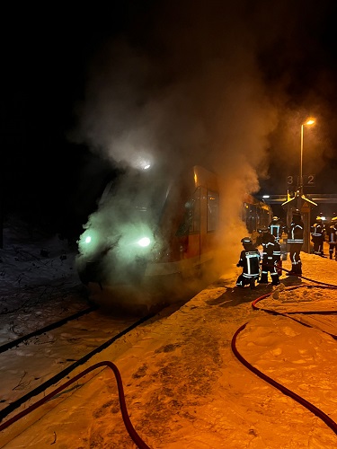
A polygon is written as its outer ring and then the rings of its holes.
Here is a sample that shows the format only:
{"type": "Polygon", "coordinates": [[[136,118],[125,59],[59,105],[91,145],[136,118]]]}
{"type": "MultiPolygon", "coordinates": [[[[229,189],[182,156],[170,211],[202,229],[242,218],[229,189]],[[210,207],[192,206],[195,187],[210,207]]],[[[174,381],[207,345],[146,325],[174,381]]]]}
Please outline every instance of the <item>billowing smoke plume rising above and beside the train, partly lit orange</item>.
{"type": "Polygon", "coordinates": [[[245,2],[158,2],[94,57],[72,136],[113,166],[216,172],[222,272],[238,260],[243,196],[267,176],[278,121],[252,18],[245,2]]]}

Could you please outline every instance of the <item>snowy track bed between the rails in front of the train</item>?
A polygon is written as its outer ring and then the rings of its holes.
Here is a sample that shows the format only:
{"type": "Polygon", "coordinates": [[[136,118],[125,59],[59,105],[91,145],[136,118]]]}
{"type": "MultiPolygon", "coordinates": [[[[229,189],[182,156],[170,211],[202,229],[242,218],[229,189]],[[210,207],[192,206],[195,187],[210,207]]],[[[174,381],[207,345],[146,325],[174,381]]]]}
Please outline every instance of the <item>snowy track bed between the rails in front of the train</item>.
{"type": "Polygon", "coordinates": [[[116,318],[93,306],[2,345],[0,422],[151,317],[116,318]]]}

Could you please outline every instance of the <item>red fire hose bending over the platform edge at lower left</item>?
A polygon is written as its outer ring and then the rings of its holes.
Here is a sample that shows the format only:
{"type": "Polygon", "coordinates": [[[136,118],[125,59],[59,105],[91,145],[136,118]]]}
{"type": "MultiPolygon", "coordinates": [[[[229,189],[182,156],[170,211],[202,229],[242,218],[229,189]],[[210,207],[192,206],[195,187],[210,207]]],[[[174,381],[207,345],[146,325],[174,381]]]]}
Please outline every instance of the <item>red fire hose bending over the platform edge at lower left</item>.
{"type": "Polygon", "coordinates": [[[62,390],[67,388],[72,383],[75,383],[81,377],[84,377],[85,374],[90,373],[91,371],[99,368],[100,366],[109,366],[111,368],[111,370],[113,371],[113,374],[115,374],[118,392],[119,392],[119,398],[120,398],[121,416],[123,418],[125,427],[127,427],[129,436],[132,438],[132,440],[134,441],[134,443],[137,445],[137,447],[139,449],[150,449],[150,447],[148,445],[146,445],[146,443],[142,440],[142,438],[137,434],[137,431],[135,430],[135,428],[132,426],[132,423],[129,419],[127,405],[125,402],[124,389],[123,389],[123,384],[121,382],[120,371],[116,365],[114,365],[112,362],[109,362],[109,361],[98,362],[98,363],[84,369],[84,371],[82,371],[81,373],[76,374],[73,379],[70,379],[66,383],[63,383],[63,385],[60,385],[53,392],[50,392],[47,396],[40,399],[40,401],[37,401],[35,404],[32,404],[27,409],[22,410],[22,412],[18,413],[13,418],[10,418],[7,421],[5,421],[4,424],[0,424],[0,431],[4,430],[6,427],[11,426],[15,421],[18,421],[20,418],[23,418],[24,416],[28,415],[29,413],[31,413],[32,410],[37,409],[38,407],[40,407],[40,405],[49,401],[49,399],[51,399],[53,396],[58,394],[58,392],[61,392],[62,390]]]}

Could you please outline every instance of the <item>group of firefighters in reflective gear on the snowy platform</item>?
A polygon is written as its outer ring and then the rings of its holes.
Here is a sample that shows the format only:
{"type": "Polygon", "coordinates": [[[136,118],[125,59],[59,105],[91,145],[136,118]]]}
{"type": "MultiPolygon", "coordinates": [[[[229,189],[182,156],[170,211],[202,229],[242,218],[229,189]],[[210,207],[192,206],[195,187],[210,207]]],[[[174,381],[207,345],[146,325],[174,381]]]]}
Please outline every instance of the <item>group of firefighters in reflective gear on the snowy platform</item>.
{"type": "MultiPolygon", "coordinates": [[[[249,285],[254,288],[255,282],[268,284],[269,273],[271,284],[279,285],[279,277],[282,273],[279,241],[282,233],[288,233],[291,270],[288,271],[287,276],[302,275],[300,252],[304,243],[304,223],[299,210],[295,210],[289,228],[283,225],[278,216],[273,216],[270,225],[259,230],[256,242],[253,243],[251,237],[244,237],[241,240],[244,250],[241,251],[240,260],[236,266],[242,267],[243,272],[237,278],[236,286],[249,285]],[[259,248],[261,247],[262,251],[260,252],[259,248]]],[[[337,216],[333,217],[329,226],[325,226],[323,218],[317,216],[316,223],[312,226],[311,238],[315,255],[326,257],[324,256],[324,242],[329,242],[330,259],[337,260],[337,216]]]]}

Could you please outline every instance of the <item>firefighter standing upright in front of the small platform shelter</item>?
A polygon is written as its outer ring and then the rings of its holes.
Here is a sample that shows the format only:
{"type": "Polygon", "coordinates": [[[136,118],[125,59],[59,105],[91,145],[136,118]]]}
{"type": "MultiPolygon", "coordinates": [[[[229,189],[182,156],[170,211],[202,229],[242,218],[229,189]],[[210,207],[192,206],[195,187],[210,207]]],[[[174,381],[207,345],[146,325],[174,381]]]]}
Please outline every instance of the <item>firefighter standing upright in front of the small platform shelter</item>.
{"type": "Polygon", "coordinates": [[[302,221],[301,213],[298,209],[293,212],[291,224],[288,231],[289,255],[291,260],[291,270],[287,276],[302,275],[301,250],[304,242],[305,225],[302,221]]]}

